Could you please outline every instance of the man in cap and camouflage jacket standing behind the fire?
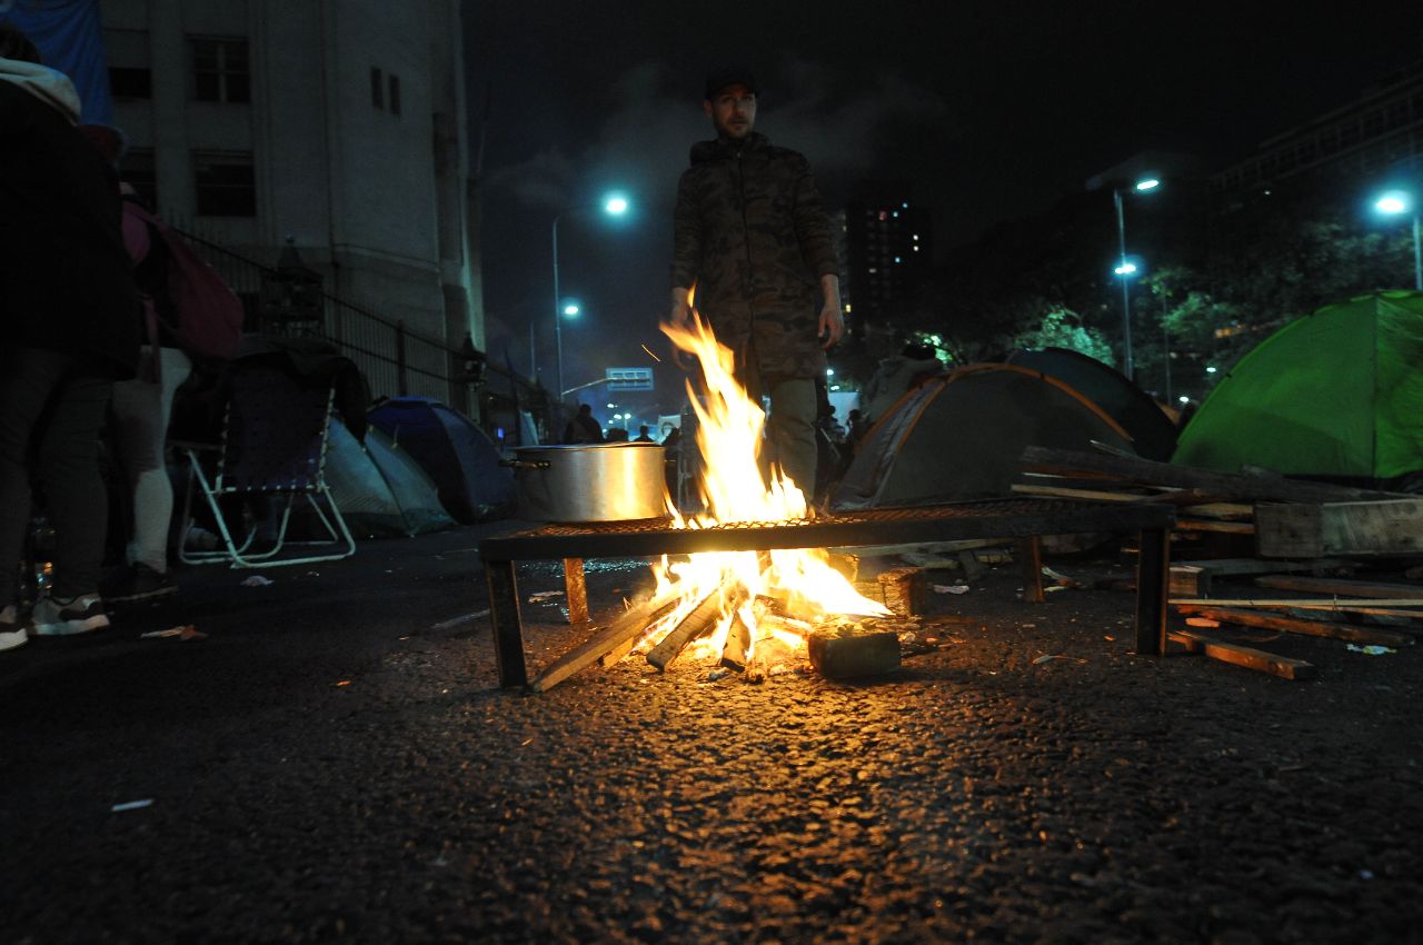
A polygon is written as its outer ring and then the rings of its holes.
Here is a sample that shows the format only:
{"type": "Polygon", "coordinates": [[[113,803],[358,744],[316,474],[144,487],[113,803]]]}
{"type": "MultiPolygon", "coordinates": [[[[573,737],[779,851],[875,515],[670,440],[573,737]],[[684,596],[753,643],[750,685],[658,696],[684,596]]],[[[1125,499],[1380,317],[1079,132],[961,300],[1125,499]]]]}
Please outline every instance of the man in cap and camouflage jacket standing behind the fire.
{"type": "Polygon", "coordinates": [[[689,293],[717,340],[736,353],[737,380],[768,397],[768,458],[813,500],[815,380],[844,333],[830,221],[805,158],[754,131],[760,87],[727,68],[706,83],[714,141],[692,147],[677,182],[672,323],[692,320],[689,293]]]}

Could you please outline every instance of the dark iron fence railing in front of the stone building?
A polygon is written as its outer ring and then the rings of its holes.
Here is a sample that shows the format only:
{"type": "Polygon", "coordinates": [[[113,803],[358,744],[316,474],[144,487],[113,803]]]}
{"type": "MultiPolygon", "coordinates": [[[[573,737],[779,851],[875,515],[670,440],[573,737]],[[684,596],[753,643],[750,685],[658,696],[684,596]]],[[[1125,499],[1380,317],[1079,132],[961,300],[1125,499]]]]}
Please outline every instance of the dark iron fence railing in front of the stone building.
{"type": "Polygon", "coordinates": [[[549,443],[558,428],[549,391],[508,366],[490,363],[472,346],[451,347],[401,319],[330,295],[300,273],[260,263],[192,229],[175,229],[242,299],[246,332],[323,339],[356,363],[373,397],[440,400],[499,445],[549,443]]]}

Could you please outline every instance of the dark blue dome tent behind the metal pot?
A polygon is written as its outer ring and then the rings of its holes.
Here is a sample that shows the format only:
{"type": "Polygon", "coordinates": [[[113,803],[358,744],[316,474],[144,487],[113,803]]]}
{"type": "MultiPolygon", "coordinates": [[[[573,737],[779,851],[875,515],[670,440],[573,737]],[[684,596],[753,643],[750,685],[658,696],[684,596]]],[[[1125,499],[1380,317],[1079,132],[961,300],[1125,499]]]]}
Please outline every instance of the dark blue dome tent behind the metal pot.
{"type": "Polygon", "coordinates": [[[391,397],[366,416],[434,480],[440,502],[457,522],[494,518],[512,505],[514,474],[499,465],[494,441],[448,404],[391,397]]]}

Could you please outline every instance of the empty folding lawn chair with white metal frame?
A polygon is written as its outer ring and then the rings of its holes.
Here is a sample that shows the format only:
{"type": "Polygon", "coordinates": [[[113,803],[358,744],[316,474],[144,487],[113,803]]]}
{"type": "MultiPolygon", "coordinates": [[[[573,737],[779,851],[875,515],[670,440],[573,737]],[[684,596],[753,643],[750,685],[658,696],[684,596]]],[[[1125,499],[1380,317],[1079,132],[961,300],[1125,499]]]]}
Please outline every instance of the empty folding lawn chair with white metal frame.
{"type": "Polygon", "coordinates": [[[270,364],[233,361],[231,370],[221,441],[174,443],[188,458],[184,528],[179,534],[188,535],[194,524],[194,492],[201,491],[223,547],[192,551],[181,542],[179,558],[191,565],[226,562],[233,568],[270,568],[353,555],[356,541],[326,485],[327,423],[334,389],[329,384],[302,387],[287,371],[270,364]],[[239,528],[232,528],[223,514],[223,500],[231,507],[235,498],[245,500],[239,528]],[[299,498],[305,498],[316,512],[326,538],[289,539],[287,525],[299,498]],[[265,519],[253,507],[262,504],[269,507],[268,517],[275,517],[280,508],[280,522],[275,534],[269,531],[270,545],[259,541],[265,519]],[[243,532],[240,542],[236,538],[239,532],[243,532]],[[293,554],[290,547],[297,545],[323,551],[293,554]]]}

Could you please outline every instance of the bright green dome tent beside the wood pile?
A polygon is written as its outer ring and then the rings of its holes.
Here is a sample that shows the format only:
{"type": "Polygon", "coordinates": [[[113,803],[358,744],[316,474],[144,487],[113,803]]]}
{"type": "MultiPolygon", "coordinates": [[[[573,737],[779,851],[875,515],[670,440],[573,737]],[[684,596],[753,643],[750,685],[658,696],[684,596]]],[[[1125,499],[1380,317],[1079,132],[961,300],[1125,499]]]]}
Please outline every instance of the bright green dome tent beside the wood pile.
{"type": "Polygon", "coordinates": [[[1348,480],[1423,470],[1423,293],[1376,292],[1279,329],[1217,384],[1171,461],[1348,480]]]}

